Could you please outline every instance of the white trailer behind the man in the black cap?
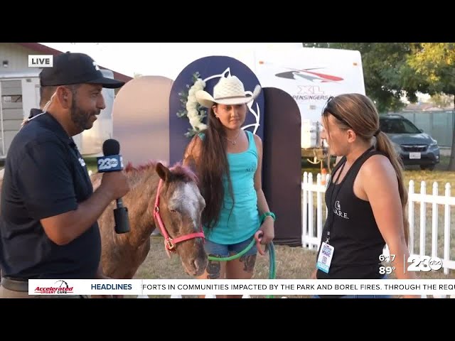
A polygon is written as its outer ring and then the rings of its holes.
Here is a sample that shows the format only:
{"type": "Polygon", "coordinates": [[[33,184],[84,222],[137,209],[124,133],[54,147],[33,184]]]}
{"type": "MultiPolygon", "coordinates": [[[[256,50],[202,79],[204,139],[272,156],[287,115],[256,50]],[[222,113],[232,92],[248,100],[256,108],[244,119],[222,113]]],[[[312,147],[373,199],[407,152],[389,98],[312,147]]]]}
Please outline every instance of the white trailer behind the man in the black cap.
{"type": "MultiPolygon", "coordinates": [[[[30,110],[40,107],[38,68],[0,72],[0,160],[8,153],[12,139],[21,128],[30,110]]],[[[105,77],[114,77],[111,70],[101,70],[105,77]]],[[[112,137],[114,90],[103,89],[106,108],[101,111],[92,129],[73,137],[82,156],[102,155],[102,143],[112,137]]]]}

